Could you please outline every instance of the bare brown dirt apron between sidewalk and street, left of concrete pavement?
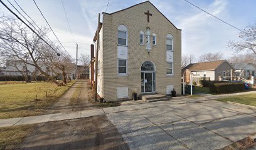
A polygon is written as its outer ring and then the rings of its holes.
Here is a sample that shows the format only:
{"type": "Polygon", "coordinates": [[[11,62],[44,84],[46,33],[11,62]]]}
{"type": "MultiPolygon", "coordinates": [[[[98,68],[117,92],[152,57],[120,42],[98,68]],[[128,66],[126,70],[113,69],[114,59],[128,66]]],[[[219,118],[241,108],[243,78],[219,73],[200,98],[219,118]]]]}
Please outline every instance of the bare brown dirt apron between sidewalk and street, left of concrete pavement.
{"type": "Polygon", "coordinates": [[[104,116],[38,124],[20,149],[129,149],[104,116]]]}

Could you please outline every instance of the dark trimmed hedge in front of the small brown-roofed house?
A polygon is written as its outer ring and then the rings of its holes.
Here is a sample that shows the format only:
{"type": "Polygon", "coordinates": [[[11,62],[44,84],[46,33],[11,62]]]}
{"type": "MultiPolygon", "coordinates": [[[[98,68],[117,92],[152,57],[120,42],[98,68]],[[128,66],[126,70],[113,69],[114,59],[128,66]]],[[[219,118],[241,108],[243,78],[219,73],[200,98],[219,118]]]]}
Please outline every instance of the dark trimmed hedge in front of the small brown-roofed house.
{"type": "Polygon", "coordinates": [[[209,86],[211,94],[233,93],[245,90],[244,83],[213,83],[209,86]]]}

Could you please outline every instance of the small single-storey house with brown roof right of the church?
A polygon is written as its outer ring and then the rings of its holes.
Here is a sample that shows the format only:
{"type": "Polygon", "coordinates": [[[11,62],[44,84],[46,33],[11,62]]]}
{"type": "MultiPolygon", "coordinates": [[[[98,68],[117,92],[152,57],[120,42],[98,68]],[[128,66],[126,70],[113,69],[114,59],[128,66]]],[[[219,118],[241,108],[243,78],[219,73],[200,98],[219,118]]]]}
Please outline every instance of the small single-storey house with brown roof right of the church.
{"type": "Polygon", "coordinates": [[[218,81],[221,79],[230,79],[234,68],[226,61],[210,61],[204,63],[189,64],[183,68],[185,82],[189,83],[189,74],[192,73],[196,78],[210,78],[211,81],[218,81]]]}

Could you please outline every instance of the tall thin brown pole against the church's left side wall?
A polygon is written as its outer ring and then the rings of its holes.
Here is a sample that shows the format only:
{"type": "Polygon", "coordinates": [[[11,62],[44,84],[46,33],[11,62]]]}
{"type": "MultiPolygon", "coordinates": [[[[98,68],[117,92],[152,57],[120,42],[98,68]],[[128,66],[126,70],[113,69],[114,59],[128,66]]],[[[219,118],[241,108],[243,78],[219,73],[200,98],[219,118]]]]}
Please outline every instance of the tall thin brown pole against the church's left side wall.
{"type": "Polygon", "coordinates": [[[97,49],[95,53],[95,87],[94,87],[94,100],[98,99],[98,52],[99,52],[99,35],[100,34],[100,13],[98,18],[98,27],[97,27],[97,49]]]}

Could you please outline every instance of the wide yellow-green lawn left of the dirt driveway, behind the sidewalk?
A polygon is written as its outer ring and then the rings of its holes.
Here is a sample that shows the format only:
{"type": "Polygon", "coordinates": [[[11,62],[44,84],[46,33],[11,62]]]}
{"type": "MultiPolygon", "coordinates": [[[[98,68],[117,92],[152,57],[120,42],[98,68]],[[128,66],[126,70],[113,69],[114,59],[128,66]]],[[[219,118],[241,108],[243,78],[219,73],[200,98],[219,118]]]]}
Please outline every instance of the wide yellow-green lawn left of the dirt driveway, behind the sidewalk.
{"type": "Polygon", "coordinates": [[[0,119],[43,114],[74,82],[66,86],[51,82],[0,85],[0,119]]]}

